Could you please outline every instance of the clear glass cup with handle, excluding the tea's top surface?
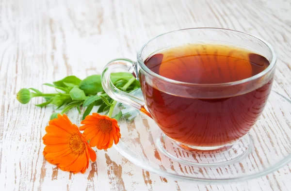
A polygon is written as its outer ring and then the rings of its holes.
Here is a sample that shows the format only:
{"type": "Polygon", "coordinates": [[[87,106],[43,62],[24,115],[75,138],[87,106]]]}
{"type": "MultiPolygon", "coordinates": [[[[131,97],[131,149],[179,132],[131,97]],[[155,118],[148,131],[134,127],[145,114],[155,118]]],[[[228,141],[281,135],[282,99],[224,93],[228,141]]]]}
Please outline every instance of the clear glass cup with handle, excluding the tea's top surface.
{"type": "Polygon", "coordinates": [[[193,28],[167,32],[151,39],[138,51],[137,62],[115,59],[105,66],[101,78],[104,91],[110,97],[153,118],[164,133],[164,144],[171,142],[187,152],[217,153],[217,150],[234,148],[238,142],[249,144],[244,135],[264,109],[274,79],[275,63],[274,49],[258,37],[227,29],[193,28]],[[146,58],[163,49],[188,44],[218,44],[247,49],[265,57],[270,65],[244,80],[199,84],[164,78],[144,63],[146,58]],[[110,74],[120,70],[129,71],[140,81],[143,100],[113,85],[110,74]],[[184,105],[173,108],[159,104],[157,99],[163,102],[174,100],[184,105]],[[223,109],[221,102],[225,103],[223,109]],[[191,104],[197,107],[189,111],[187,106],[191,104]],[[160,109],[166,109],[168,114],[160,112],[160,109]]]}

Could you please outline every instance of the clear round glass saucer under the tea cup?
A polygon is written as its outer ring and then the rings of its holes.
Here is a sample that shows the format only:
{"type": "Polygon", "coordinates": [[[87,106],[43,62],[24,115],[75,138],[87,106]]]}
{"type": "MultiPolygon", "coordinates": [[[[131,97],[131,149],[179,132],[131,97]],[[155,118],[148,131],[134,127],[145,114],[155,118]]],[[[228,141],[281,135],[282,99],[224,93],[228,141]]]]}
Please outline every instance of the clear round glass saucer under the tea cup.
{"type": "MultiPolygon", "coordinates": [[[[140,89],[132,94],[142,97],[140,89]]],[[[235,152],[242,152],[227,163],[211,163],[213,153],[189,155],[187,150],[169,142],[147,115],[119,103],[113,116],[120,111],[121,139],[115,149],[135,165],[161,176],[199,183],[238,182],[270,174],[291,162],[291,100],[275,91],[258,122],[237,143],[241,151],[219,153],[220,159],[227,160],[235,152]],[[248,146],[244,147],[244,143],[248,146]]]]}

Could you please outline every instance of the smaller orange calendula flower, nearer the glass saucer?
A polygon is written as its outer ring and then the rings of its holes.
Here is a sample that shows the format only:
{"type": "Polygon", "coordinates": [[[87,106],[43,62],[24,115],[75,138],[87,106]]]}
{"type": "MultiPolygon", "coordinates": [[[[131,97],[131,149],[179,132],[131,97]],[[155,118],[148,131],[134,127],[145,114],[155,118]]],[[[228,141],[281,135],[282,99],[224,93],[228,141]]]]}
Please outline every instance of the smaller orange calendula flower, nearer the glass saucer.
{"type": "Polygon", "coordinates": [[[98,149],[112,147],[113,141],[117,144],[121,137],[116,119],[107,115],[92,113],[92,115],[87,115],[81,124],[83,126],[80,127],[80,130],[84,130],[85,139],[90,140],[90,146],[96,146],[98,149]]]}

